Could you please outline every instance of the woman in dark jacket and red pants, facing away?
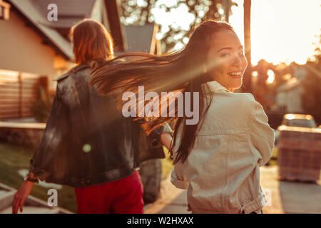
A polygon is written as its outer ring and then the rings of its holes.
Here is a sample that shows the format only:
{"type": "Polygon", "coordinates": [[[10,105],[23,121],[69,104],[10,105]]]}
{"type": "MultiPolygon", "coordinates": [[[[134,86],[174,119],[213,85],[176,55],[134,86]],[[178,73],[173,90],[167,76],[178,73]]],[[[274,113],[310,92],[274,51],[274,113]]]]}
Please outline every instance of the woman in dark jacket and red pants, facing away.
{"type": "Polygon", "coordinates": [[[76,67],[56,79],[44,137],[30,160],[28,177],[14,197],[17,213],[34,182],[75,187],[78,213],[143,213],[139,162],[163,158],[161,129],[141,142],[141,128],[116,108],[112,96],[88,86],[91,71],[113,57],[106,28],[85,19],[71,28],[76,67]]]}

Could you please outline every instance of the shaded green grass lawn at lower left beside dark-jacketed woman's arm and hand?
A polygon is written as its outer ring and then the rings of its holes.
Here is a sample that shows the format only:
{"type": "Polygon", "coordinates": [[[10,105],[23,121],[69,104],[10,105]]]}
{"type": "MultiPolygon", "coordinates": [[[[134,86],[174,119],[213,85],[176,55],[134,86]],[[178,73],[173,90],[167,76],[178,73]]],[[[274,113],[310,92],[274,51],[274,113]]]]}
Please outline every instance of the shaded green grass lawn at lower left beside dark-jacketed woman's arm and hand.
{"type": "MultiPolygon", "coordinates": [[[[21,169],[29,170],[29,158],[34,154],[33,149],[9,145],[0,142],[0,182],[19,189],[24,178],[19,175],[21,169]]],[[[35,184],[31,195],[47,201],[49,189],[35,184]]],[[[73,187],[63,185],[58,192],[58,207],[63,207],[71,212],[77,212],[76,196],[73,187]]]]}

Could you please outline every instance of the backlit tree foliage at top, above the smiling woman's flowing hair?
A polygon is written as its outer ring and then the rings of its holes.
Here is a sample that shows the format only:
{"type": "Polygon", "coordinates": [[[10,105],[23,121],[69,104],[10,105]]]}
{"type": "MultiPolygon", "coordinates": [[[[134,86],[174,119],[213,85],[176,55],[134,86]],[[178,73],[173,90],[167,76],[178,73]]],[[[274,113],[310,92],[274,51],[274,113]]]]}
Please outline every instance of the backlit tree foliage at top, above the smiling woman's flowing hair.
{"type": "Polygon", "coordinates": [[[225,6],[229,8],[229,15],[232,15],[231,7],[237,6],[232,0],[118,0],[121,8],[121,23],[125,25],[141,25],[146,23],[156,23],[160,25],[160,31],[163,35],[162,51],[170,51],[176,43],[187,43],[191,28],[205,19],[225,20],[225,6]],[[188,13],[193,15],[193,21],[188,28],[182,28],[175,24],[163,26],[156,23],[153,10],[163,9],[165,12],[173,12],[181,5],[188,7],[188,13]]]}

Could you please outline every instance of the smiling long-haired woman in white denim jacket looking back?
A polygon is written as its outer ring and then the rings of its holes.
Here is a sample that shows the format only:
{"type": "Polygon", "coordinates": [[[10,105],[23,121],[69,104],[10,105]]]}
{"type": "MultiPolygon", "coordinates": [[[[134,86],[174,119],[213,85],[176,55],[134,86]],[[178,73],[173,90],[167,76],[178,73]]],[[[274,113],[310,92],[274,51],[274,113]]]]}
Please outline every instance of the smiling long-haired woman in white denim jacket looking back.
{"type": "MultiPolygon", "coordinates": [[[[195,107],[200,108],[196,125],[188,125],[185,120],[193,117],[180,116],[178,108],[174,116],[145,118],[142,123],[151,132],[175,120],[171,182],[188,189],[192,213],[259,213],[265,206],[259,166],[272,155],[274,131],[253,95],[232,93],[242,85],[246,66],[243,46],[230,24],[209,20],[195,28],[180,51],[163,56],[126,53],[93,71],[91,84],[102,95],[117,92],[120,102],[128,91],[139,94],[140,86],[146,94],[199,94],[190,99],[190,107],[198,103],[195,107]],[[117,61],[129,57],[135,58],[117,61]]],[[[138,102],[144,108],[148,104],[138,102]]]]}

